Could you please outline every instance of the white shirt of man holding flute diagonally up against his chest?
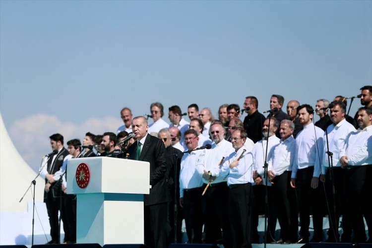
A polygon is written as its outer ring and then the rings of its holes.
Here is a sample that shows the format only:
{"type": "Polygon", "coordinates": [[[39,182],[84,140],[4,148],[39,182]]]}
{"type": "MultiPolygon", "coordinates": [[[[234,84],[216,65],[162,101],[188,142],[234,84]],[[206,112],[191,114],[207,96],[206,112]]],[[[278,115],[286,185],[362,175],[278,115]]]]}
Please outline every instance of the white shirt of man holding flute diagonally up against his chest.
{"type": "Polygon", "coordinates": [[[253,183],[253,153],[251,151],[246,151],[239,160],[238,166],[230,169],[230,163],[237,160],[242,155],[244,149],[246,149],[245,146],[241,147],[237,152],[234,151],[231,153],[222,164],[220,176],[227,176],[227,185],[229,186],[253,183]]]}

